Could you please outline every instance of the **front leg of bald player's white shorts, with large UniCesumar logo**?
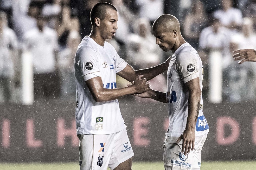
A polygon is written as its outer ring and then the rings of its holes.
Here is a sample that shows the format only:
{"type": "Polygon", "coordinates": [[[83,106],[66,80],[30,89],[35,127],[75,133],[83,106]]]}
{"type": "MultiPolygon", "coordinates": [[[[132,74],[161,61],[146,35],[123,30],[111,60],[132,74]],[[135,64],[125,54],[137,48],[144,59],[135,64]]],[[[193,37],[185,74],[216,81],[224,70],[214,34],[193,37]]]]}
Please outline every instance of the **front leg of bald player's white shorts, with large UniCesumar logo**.
{"type": "Polygon", "coordinates": [[[175,143],[178,137],[166,137],[164,141],[164,168],[165,170],[191,169],[194,153],[191,151],[186,156],[181,152],[182,140],[175,143]]]}

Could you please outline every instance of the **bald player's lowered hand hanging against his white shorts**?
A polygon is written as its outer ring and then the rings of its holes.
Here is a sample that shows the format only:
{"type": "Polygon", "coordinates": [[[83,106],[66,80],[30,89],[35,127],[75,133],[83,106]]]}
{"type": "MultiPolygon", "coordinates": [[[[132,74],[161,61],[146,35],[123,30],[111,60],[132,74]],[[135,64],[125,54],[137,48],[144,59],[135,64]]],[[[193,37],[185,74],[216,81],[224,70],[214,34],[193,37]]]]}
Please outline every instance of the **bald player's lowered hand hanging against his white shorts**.
{"type": "Polygon", "coordinates": [[[182,148],[181,152],[184,153],[184,155],[187,155],[187,153],[194,150],[195,146],[195,129],[185,129],[184,132],[181,134],[181,136],[178,138],[178,140],[175,143],[179,143],[182,139],[182,148]]]}

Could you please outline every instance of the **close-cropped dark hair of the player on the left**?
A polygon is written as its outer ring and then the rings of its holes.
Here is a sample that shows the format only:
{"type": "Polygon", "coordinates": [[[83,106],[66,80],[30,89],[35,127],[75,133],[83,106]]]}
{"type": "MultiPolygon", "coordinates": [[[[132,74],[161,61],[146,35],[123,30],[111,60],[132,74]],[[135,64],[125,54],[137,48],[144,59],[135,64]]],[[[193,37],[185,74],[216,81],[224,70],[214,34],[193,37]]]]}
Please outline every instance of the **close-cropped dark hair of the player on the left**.
{"type": "Polygon", "coordinates": [[[93,26],[95,25],[94,19],[99,18],[103,20],[107,14],[108,9],[117,11],[117,9],[112,4],[107,2],[99,2],[92,7],[90,12],[90,19],[93,26]]]}

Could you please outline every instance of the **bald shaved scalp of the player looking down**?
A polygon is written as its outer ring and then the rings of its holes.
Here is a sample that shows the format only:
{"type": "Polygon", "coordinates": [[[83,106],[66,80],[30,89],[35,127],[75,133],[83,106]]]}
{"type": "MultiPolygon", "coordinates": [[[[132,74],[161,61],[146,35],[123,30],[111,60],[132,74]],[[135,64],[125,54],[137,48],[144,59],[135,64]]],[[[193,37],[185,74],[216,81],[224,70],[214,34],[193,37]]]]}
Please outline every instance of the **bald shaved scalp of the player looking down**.
{"type": "Polygon", "coordinates": [[[180,22],[179,20],[170,14],[163,14],[158,17],[153,23],[152,30],[162,30],[162,31],[174,31],[177,30],[180,33],[180,22]]]}

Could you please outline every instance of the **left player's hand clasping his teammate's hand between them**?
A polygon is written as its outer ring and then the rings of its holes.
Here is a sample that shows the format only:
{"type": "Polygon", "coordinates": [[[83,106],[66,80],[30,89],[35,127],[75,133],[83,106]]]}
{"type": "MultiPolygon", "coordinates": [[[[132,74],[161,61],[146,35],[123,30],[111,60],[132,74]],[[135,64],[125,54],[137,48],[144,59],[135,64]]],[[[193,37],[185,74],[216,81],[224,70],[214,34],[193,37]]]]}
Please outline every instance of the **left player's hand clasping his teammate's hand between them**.
{"type": "Polygon", "coordinates": [[[142,79],[143,75],[138,75],[132,87],[134,87],[135,93],[144,93],[145,91],[149,91],[150,87],[147,79],[142,79]]]}

